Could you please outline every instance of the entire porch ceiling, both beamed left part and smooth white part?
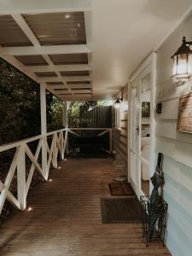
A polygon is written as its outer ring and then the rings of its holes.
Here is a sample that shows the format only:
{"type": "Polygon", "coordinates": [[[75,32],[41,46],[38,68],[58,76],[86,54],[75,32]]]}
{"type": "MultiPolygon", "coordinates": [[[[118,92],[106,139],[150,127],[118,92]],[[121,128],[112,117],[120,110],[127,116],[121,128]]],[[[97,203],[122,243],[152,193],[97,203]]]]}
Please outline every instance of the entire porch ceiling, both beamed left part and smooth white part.
{"type": "Polygon", "coordinates": [[[189,9],[191,0],[0,0],[0,55],[62,100],[110,97],[189,9]]]}

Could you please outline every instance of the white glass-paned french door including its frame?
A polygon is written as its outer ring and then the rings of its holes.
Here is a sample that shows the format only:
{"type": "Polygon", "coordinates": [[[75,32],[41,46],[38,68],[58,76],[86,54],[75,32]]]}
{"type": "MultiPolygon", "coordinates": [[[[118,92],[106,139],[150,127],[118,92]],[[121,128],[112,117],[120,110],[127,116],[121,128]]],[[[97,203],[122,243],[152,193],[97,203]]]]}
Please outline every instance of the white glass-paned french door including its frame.
{"type": "Polygon", "coordinates": [[[149,194],[149,177],[154,172],[154,89],[155,54],[152,54],[129,83],[129,177],[138,197],[149,194]]]}

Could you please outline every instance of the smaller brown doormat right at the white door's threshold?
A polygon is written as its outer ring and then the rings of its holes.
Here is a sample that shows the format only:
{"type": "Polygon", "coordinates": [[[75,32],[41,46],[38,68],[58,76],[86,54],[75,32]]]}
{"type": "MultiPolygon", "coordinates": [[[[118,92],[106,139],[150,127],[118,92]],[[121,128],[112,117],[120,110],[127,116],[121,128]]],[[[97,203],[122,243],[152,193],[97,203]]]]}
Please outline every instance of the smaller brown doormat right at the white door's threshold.
{"type": "Polygon", "coordinates": [[[111,195],[135,195],[130,183],[109,183],[108,187],[111,195]]]}

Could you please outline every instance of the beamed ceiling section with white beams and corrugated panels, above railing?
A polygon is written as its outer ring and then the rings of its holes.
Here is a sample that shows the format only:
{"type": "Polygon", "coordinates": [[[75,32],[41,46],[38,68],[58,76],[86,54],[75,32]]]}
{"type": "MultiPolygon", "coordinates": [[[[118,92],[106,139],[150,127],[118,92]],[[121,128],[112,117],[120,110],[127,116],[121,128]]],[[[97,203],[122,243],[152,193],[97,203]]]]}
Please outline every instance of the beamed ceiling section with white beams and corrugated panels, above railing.
{"type": "MultiPolygon", "coordinates": [[[[14,1],[8,2],[14,5],[14,1]]],[[[0,9],[6,13],[0,13],[3,58],[62,100],[91,99],[90,49],[84,22],[90,1],[48,1],[46,9],[41,0],[34,5],[26,1],[26,6],[19,2],[13,8],[0,1],[0,9]],[[24,9],[18,9],[21,6],[24,9]]]]}

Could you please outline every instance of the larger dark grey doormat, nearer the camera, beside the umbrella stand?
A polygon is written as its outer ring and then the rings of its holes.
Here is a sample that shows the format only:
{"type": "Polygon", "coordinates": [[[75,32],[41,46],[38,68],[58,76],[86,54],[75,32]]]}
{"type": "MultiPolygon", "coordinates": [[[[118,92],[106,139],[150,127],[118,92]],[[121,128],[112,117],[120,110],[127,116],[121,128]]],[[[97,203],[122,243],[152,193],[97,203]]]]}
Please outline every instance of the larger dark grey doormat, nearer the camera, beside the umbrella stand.
{"type": "Polygon", "coordinates": [[[141,208],[136,196],[101,198],[103,224],[141,223],[141,208]]]}

